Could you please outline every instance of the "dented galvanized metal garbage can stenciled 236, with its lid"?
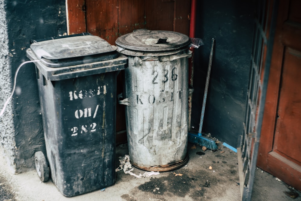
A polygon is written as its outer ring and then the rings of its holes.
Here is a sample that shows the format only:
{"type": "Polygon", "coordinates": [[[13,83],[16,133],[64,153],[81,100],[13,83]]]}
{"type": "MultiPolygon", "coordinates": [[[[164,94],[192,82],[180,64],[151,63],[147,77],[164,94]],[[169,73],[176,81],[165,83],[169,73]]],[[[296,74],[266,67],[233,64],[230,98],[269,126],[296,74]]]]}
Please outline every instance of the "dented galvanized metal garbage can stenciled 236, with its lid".
{"type": "Polygon", "coordinates": [[[171,31],[136,30],[116,40],[129,59],[123,98],[131,163],[168,171],[188,161],[190,38],[171,31]]]}

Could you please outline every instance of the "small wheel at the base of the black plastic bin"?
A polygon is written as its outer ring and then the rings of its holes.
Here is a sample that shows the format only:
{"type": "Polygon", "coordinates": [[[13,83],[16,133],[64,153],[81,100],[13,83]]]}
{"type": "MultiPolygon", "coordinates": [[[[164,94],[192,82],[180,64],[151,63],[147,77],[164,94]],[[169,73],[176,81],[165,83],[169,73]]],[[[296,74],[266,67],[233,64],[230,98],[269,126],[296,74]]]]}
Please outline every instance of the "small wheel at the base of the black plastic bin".
{"type": "Polygon", "coordinates": [[[49,169],[47,165],[47,161],[45,158],[45,155],[43,152],[38,151],[35,153],[35,165],[36,165],[36,171],[38,173],[38,176],[40,177],[40,180],[42,182],[48,181],[49,179],[49,169]]]}

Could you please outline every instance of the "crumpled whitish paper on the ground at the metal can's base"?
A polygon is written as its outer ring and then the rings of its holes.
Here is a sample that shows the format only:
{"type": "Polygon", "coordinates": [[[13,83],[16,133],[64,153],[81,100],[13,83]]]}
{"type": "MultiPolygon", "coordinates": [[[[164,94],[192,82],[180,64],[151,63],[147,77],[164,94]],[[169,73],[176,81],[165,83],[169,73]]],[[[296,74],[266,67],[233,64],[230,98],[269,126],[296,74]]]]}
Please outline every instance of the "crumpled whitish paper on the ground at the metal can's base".
{"type": "Polygon", "coordinates": [[[119,157],[119,162],[120,162],[120,165],[119,165],[118,168],[116,168],[116,172],[118,172],[120,170],[123,170],[124,173],[133,175],[137,178],[151,177],[152,175],[160,174],[159,172],[154,172],[154,171],[145,172],[144,174],[139,174],[139,175],[133,173],[132,171],[134,170],[134,168],[132,168],[132,164],[130,163],[130,156],[129,155],[125,155],[124,157],[119,157]]]}

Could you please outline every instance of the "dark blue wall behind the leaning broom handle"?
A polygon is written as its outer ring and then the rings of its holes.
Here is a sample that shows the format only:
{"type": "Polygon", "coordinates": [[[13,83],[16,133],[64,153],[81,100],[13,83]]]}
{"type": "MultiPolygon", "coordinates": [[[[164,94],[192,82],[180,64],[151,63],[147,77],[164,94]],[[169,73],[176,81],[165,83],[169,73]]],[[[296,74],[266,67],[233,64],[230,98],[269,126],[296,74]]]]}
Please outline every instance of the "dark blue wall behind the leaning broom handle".
{"type": "Polygon", "coordinates": [[[198,129],[211,39],[216,39],[202,131],[236,148],[242,133],[253,36],[253,2],[198,1],[191,125],[198,129]]]}

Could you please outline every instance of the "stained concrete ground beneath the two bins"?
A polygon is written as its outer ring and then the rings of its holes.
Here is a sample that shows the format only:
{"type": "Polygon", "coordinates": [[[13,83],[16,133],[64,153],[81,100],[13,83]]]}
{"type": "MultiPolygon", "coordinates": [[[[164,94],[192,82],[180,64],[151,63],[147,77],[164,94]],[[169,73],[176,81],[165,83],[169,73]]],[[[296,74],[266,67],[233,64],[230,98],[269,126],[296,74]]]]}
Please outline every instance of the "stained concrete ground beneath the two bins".
{"type": "MultiPolygon", "coordinates": [[[[188,144],[189,161],[182,168],[160,172],[152,177],[136,178],[116,172],[116,183],[104,191],[67,198],[63,196],[51,180],[42,183],[36,171],[11,174],[3,157],[0,157],[0,201],[168,201],[168,200],[240,200],[237,154],[221,145],[215,152],[203,151],[200,146],[188,144]],[[211,167],[211,168],[210,168],[211,167]]],[[[127,144],[117,146],[119,156],[128,154],[127,144]]],[[[145,171],[134,168],[133,173],[145,171]]],[[[256,169],[252,200],[301,200],[287,196],[290,191],[282,181],[261,169],[256,169]]]]}

